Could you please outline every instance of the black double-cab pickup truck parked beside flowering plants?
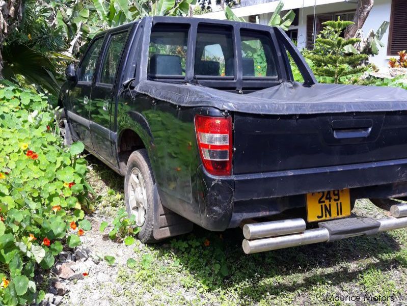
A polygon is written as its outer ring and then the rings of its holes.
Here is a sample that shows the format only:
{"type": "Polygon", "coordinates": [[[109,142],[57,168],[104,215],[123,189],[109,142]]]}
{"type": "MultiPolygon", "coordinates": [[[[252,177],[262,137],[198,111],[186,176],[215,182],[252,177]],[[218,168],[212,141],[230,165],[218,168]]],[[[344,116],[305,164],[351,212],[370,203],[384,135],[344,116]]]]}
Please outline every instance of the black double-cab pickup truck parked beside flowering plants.
{"type": "Polygon", "coordinates": [[[318,84],[281,29],[146,17],[66,77],[66,139],[125,176],[144,242],[241,226],[256,253],[407,227],[389,200],[407,196],[407,92],[318,84]],[[391,216],[351,217],[360,198],[391,216]]]}

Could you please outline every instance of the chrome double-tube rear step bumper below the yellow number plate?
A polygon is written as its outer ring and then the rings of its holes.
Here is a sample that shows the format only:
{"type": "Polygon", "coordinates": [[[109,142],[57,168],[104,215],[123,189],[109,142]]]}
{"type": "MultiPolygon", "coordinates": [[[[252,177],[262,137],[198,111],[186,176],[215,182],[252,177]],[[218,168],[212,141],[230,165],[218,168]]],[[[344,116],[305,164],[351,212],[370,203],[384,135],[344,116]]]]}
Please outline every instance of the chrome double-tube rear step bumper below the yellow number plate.
{"type": "MultiPolygon", "coordinates": [[[[361,230],[358,232],[356,230],[351,233],[344,230],[341,237],[355,237],[407,227],[407,204],[395,204],[391,206],[390,212],[392,217],[376,220],[375,224],[377,226],[375,230],[372,231],[370,228],[369,231],[361,230]]],[[[360,224],[363,225],[370,218],[351,219],[358,219],[360,224]]],[[[343,225],[346,225],[346,222],[350,220],[348,218],[338,221],[343,228],[343,225]]],[[[306,230],[306,222],[302,218],[246,224],[243,226],[245,239],[243,239],[242,248],[246,254],[253,254],[292,246],[328,242],[333,235],[332,227],[327,225],[330,222],[338,223],[338,221],[321,222],[318,229],[312,230],[306,230]]]]}

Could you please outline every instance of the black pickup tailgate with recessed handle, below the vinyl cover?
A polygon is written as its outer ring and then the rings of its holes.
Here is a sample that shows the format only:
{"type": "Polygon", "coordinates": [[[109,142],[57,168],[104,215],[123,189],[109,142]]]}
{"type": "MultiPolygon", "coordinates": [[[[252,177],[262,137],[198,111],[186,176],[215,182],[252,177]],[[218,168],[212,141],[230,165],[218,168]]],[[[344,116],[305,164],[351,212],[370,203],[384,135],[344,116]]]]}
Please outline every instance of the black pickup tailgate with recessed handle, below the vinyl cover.
{"type": "Polygon", "coordinates": [[[407,157],[407,112],[234,114],[233,174],[407,157]]]}

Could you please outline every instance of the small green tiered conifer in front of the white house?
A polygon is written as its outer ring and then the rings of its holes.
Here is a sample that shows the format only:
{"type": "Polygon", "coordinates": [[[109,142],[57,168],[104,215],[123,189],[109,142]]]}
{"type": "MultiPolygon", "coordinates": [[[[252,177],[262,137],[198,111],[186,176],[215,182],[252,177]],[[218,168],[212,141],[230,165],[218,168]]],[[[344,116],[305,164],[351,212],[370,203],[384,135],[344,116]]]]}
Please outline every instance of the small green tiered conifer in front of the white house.
{"type": "Polygon", "coordinates": [[[306,58],[313,62],[313,71],[318,76],[331,78],[335,84],[341,82],[340,78],[367,70],[363,62],[367,60],[366,54],[346,53],[344,47],[359,42],[358,38],[344,39],[343,30],[353,24],[352,21],[327,21],[322,24],[324,29],[315,39],[314,50],[306,52],[306,58]]]}

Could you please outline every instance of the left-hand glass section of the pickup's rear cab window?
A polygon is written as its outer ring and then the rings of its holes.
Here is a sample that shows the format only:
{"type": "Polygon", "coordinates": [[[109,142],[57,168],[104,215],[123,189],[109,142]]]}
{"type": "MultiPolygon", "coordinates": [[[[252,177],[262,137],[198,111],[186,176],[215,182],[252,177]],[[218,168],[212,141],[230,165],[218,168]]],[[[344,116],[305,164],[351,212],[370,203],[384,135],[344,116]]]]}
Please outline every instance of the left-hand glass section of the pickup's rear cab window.
{"type": "Polygon", "coordinates": [[[148,74],[184,76],[187,38],[187,29],[154,27],[148,50],[148,74]]]}

